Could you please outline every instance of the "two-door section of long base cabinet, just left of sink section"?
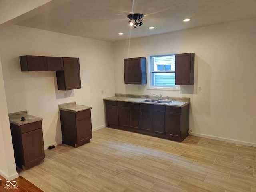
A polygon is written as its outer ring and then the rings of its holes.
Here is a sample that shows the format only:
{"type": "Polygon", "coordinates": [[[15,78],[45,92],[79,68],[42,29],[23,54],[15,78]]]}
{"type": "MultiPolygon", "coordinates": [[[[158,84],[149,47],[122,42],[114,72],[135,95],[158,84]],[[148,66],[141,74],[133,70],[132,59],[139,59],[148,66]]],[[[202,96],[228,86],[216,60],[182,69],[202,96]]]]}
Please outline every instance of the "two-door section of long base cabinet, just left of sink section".
{"type": "Polygon", "coordinates": [[[119,127],[127,130],[140,129],[140,105],[139,103],[130,103],[118,101],[118,120],[119,127]]]}

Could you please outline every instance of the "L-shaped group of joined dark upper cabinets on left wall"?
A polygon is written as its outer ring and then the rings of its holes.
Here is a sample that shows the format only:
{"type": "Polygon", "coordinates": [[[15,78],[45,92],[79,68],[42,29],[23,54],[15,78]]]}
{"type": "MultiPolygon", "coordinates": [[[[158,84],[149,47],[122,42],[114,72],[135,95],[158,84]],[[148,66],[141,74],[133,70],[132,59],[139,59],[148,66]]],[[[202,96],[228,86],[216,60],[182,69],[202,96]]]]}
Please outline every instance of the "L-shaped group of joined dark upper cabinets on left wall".
{"type": "Polygon", "coordinates": [[[21,71],[56,71],[58,90],[81,88],[79,58],[20,56],[21,71]]]}

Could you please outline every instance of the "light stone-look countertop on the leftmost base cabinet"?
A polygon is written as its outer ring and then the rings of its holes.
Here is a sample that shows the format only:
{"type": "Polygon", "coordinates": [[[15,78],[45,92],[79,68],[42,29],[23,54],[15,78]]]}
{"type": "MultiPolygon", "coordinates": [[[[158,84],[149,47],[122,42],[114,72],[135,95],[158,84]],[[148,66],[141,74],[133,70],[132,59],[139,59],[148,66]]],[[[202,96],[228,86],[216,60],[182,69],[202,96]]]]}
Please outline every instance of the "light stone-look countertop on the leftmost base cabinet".
{"type": "Polygon", "coordinates": [[[28,115],[28,111],[19,111],[19,112],[15,112],[15,113],[9,113],[10,123],[18,125],[18,126],[25,125],[28,123],[33,123],[36,121],[42,121],[42,120],[43,120],[43,118],[41,118],[41,117],[28,115]],[[24,121],[21,121],[22,117],[25,117],[24,121]]]}

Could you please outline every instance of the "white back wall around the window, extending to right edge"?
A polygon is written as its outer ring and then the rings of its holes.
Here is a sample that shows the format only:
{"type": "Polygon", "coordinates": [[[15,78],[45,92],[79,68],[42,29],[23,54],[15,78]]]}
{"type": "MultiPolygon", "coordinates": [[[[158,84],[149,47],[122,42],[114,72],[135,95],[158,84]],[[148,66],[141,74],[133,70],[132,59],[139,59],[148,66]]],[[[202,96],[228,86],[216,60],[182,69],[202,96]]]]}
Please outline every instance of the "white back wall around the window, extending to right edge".
{"type": "Polygon", "coordinates": [[[194,135],[256,146],[255,42],[256,19],[115,42],[116,93],[190,97],[194,135]],[[175,51],[196,54],[195,85],[156,91],[124,84],[124,58],[175,51]]]}

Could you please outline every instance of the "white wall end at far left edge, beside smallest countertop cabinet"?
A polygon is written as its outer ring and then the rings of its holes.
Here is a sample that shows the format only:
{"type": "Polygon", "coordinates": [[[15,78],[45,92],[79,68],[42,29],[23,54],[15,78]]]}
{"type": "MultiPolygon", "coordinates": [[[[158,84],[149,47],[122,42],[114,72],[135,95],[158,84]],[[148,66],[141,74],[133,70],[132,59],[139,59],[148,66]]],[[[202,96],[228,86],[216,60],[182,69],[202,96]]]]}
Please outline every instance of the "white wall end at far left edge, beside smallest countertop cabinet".
{"type": "MultiPolygon", "coordinates": [[[[0,58],[1,59],[1,58],[0,58]]],[[[0,174],[7,180],[18,177],[12,147],[11,129],[8,118],[2,65],[0,60],[0,174]]]]}

